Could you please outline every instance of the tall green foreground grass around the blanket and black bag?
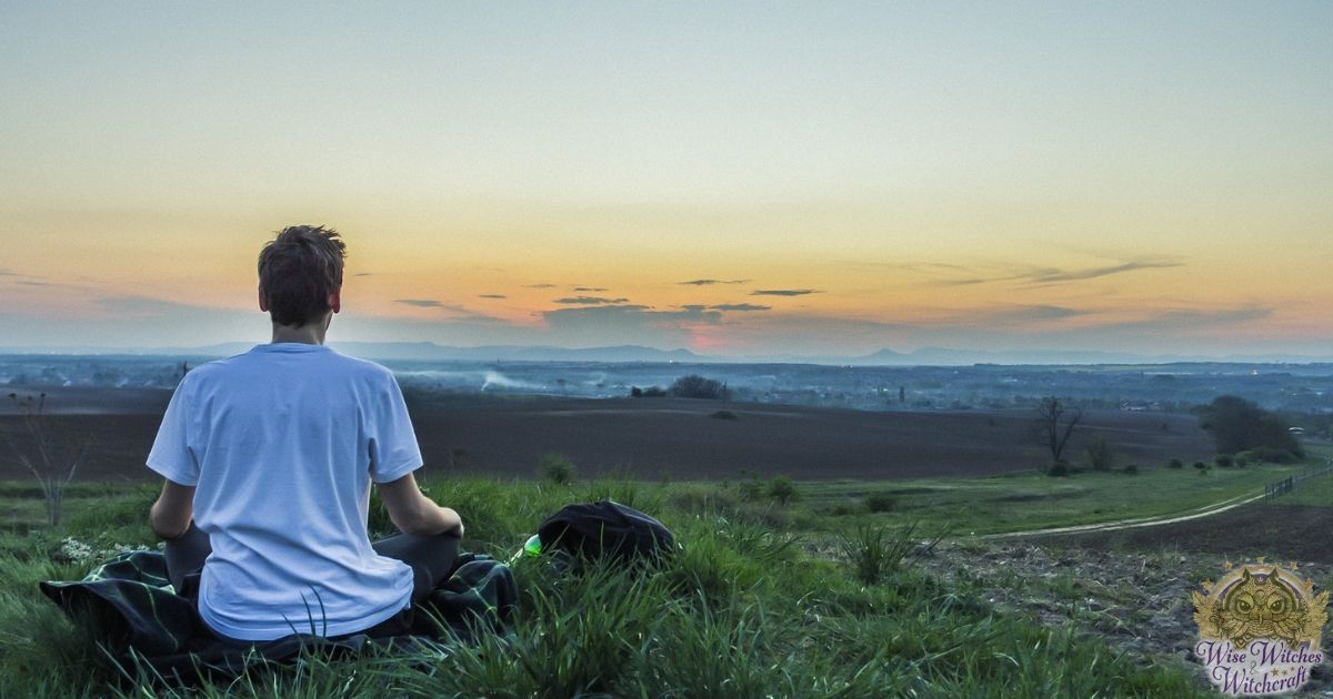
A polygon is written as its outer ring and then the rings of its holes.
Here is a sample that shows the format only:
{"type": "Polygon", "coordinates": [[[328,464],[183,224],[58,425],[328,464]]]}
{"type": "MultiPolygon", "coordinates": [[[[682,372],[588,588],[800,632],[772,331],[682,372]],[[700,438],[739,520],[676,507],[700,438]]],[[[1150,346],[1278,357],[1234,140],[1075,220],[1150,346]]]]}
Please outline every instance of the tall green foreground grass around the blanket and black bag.
{"type": "MultiPolygon", "coordinates": [[[[1076,477],[1077,479],[1081,477],[1076,477]]],[[[869,545],[893,565],[812,555],[808,505],[774,509],[738,486],[432,481],[468,521],[468,546],[508,555],[559,506],[616,495],[660,518],[684,549],[649,571],[553,574],[521,559],[515,640],[415,658],[309,655],[195,696],[1204,696],[1200,678],[1113,651],[1073,626],[1001,614],[968,582],[945,584],[901,553],[904,530],[869,545]]],[[[805,485],[797,485],[809,490],[805,485]]],[[[11,491],[5,491],[11,493],[11,491]]],[[[11,493],[3,503],[23,499],[11,493]]],[[[0,533],[0,696],[173,696],[133,667],[117,672],[36,582],[81,577],[63,539],[92,549],[149,542],[152,489],[71,498],[56,530],[0,533]]],[[[910,501],[913,497],[901,497],[910,501]]],[[[372,507],[372,529],[387,518],[372,507]]],[[[852,549],[854,553],[854,546],[852,549]]]]}

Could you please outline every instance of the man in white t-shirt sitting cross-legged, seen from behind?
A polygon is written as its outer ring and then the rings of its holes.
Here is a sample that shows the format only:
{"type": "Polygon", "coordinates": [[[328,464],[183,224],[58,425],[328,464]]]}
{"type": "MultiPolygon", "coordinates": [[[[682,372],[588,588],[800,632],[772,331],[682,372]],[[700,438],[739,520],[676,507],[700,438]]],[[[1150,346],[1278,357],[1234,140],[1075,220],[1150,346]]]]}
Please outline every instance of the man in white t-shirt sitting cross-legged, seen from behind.
{"type": "Polygon", "coordinates": [[[408,632],[457,557],[463,521],[416,483],[393,374],[324,345],[345,254],[323,226],[263,248],[272,342],[191,369],[148,454],[165,479],[149,522],[168,577],[221,640],[408,632]],[[373,545],[372,482],[400,530],[373,545]]]}

